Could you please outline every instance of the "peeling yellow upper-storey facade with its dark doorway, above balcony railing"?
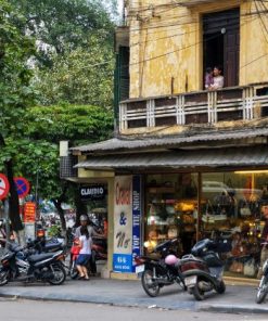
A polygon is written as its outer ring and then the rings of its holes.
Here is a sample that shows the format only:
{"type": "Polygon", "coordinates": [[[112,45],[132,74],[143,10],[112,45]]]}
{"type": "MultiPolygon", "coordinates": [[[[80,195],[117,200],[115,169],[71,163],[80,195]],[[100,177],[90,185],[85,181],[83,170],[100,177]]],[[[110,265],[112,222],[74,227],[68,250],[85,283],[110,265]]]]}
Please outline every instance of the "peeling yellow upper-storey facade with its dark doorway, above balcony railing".
{"type": "Polygon", "coordinates": [[[130,98],[203,90],[218,64],[227,87],[267,81],[265,1],[127,2],[130,98]]]}

